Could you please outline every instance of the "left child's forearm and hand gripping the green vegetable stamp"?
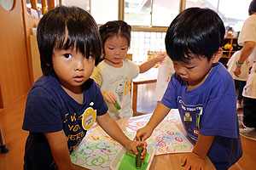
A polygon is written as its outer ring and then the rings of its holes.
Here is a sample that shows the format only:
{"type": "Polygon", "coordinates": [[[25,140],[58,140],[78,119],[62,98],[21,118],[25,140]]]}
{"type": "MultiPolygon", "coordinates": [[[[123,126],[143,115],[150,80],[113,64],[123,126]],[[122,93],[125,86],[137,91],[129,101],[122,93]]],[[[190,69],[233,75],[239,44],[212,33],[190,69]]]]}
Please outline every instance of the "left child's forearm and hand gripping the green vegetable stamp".
{"type": "Polygon", "coordinates": [[[130,153],[134,153],[135,155],[138,154],[137,151],[137,145],[143,145],[143,153],[142,158],[146,156],[147,153],[147,144],[144,141],[132,141],[128,139],[125,136],[125,133],[120,129],[119,125],[113,120],[111,116],[108,115],[108,113],[97,116],[97,122],[99,125],[103,128],[103,130],[108,133],[110,137],[115,139],[119,142],[119,144],[122,144],[125,147],[125,150],[127,150],[130,153]]]}

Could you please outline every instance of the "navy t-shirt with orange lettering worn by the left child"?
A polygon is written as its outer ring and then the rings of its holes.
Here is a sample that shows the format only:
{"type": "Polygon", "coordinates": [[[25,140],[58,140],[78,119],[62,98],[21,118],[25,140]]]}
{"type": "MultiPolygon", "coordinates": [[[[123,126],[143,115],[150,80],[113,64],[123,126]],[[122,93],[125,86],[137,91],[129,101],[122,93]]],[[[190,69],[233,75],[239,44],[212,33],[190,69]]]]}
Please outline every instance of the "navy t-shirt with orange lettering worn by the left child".
{"type": "Polygon", "coordinates": [[[29,131],[24,156],[25,169],[55,169],[44,133],[63,130],[70,153],[79,145],[96,116],[107,113],[100,88],[92,79],[84,82],[82,104],[71,98],[53,76],[42,76],[32,86],[27,100],[23,129],[29,131]],[[85,116],[86,115],[86,116],[85,116]],[[95,115],[95,116],[93,116],[95,115]]]}

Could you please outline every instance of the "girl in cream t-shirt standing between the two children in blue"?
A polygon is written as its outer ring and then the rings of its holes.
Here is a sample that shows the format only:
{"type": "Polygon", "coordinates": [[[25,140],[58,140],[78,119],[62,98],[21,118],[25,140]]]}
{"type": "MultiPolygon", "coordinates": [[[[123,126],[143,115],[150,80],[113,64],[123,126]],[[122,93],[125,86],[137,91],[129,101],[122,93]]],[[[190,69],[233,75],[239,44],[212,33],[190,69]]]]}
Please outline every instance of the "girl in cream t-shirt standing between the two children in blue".
{"type": "Polygon", "coordinates": [[[115,120],[129,118],[133,116],[131,80],[165,59],[166,54],[159,54],[143,65],[136,65],[125,58],[131,42],[131,26],[123,20],[108,21],[100,27],[100,33],[104,59],[96,66],[91,78],[102,90],[109,115],[115,120]],[[120,109],[114,107],[116,101],[120,109]]]}

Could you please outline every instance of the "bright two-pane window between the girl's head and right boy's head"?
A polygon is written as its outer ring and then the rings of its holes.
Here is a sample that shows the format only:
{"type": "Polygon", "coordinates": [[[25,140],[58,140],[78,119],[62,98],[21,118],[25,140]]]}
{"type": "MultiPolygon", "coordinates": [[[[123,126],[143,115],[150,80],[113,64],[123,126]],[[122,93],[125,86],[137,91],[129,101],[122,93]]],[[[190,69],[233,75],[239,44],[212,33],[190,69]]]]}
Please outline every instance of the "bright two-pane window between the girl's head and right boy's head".
{"type": "Polygon", "coordinates": [[[170,26],[179,0],[125,0],[125,21],[131,26],[170,26]]]}

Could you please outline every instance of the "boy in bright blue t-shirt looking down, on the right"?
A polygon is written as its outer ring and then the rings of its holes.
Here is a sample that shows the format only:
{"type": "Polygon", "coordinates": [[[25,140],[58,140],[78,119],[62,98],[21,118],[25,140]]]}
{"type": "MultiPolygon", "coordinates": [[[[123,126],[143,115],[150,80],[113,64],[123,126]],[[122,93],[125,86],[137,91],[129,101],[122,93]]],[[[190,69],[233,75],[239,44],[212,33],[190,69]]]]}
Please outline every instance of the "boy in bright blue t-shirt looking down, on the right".
{"type": "Polygon", "coordinates": [[[228,169],[242,155],[234,81],[218,62],[224,32],[211,9],[188,8],[177,15],[166,32],[166,52],[176,72],[148,124],[137,131],[137,139],[148,139],[169,111],[178,109],[195,142],[183,156],[184,169],[204,169],[207,156],[217,169],[228,169]]]}

